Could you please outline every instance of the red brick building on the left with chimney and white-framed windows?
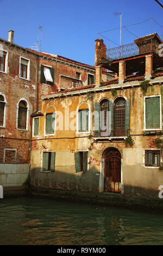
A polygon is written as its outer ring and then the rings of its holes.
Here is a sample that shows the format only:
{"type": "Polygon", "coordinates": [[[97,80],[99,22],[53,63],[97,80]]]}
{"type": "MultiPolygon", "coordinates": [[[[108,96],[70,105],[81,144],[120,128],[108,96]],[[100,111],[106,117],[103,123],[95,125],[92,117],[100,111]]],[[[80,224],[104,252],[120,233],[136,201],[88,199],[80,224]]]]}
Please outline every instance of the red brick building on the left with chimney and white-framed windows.
{"type": "Polygon", "coordinates": [[[14,31],[9,31],[8,40],[0,38],[0,65],[0,184],[17,187],[29,178],[31,126],[37,137],[41,96],[94,83],[96,71],[91,65],[16,45],[14,31]]]}

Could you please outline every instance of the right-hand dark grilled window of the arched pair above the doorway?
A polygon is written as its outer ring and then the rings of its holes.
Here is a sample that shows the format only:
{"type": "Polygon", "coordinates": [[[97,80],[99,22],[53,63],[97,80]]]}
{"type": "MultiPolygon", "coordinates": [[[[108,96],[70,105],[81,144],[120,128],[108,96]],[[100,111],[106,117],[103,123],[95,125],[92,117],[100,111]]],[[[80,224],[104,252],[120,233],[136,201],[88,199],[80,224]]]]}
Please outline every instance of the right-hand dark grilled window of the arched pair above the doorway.
{"type": "Polygon", "coordinates": [[[118,97],[115,100],[115,136],[125,136],[126,100],[118,97]]]}

